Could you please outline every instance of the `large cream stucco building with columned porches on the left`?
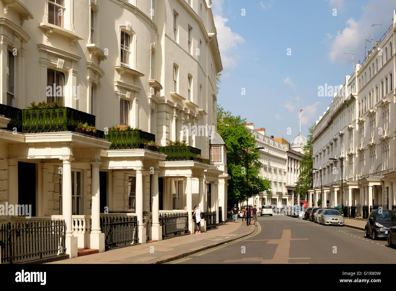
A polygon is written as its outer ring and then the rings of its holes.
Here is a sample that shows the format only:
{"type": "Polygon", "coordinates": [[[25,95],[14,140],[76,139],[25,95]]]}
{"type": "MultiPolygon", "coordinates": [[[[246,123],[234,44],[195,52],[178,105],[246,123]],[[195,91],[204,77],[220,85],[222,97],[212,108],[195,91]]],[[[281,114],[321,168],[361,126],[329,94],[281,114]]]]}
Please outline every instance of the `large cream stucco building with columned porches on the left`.
{"type": "Polygon", "coordinates": [[[194,205],[225,220],[211,0],[6,0],[0,8],[0,204],[31,204],[37,221],[64,219],[70,257],[77,247],[105,249],[103,217],[137,217],[139,243],[162,239],[164,213],[188,213],[190,233],[194,205]],[[32,101],[68,108],[12,109],[32,101]],[[141,131],[106,140],[76,133],[74,120],[105,133],[114,124],[141,131]],[[201,131],[183,131],[194,126],[201,131]],[[163,147],[144,149],[139,138],[163,147]],[[192,148],[165,147],[177,140],[192,148]],[[194,161],[199,152],[210,162],[194,161]]]}

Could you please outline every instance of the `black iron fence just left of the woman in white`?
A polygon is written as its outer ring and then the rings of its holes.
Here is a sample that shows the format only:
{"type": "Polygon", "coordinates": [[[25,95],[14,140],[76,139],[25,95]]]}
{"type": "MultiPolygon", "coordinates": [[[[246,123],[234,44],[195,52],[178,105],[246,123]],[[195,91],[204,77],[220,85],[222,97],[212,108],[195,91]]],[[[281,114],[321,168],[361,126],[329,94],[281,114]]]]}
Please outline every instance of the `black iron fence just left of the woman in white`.
{"type": "Polygon", "coordinates": [[[176,236],[188,232],[188,213],[160,213],[162,238],[176,236]]]}

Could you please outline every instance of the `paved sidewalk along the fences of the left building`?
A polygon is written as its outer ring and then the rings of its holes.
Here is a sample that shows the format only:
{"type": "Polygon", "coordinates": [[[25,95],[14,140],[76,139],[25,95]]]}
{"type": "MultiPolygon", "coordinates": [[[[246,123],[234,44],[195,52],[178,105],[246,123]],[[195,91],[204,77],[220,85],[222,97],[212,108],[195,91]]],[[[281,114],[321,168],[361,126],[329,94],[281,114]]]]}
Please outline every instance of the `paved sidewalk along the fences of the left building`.
{"type": "Polygon", "coordinates": [[[238,240],[248,236],[257,228],[253,225],[246,226],[241,219],[238,219],[238,223],[228,220],[227,223],[201,234],[178,236],[143,245],[131,245],[48,264],[160,264],[238,240]]]}

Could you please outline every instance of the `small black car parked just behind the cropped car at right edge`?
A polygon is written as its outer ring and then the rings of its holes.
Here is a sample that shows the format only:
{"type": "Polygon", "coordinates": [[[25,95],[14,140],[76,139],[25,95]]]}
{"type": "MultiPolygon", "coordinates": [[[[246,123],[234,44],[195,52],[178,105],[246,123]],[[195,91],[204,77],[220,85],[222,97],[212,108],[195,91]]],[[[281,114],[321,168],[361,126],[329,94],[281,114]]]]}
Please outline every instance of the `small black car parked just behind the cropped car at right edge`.
{"type": "Polygon", "coordinates": [[[371,211],[364,228],[364,237],[371,236],[372,240],[386,238],[390,227],[395,226],[396,211],[389,209],[375,209],[371,211]]]}

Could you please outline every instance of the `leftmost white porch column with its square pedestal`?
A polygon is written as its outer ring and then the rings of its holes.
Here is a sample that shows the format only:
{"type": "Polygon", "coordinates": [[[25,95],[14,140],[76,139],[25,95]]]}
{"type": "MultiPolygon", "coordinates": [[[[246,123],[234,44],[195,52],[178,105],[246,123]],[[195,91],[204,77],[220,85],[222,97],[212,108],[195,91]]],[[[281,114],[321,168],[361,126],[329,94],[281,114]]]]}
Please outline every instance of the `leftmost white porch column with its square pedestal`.
{"type": "Polygon", "coordinates": [[[66,253],[70,258],[77,257],[77,237],[73,235],[72,221],[72,158],[62,160],[62,213],[66,228],[66,253]]]}

